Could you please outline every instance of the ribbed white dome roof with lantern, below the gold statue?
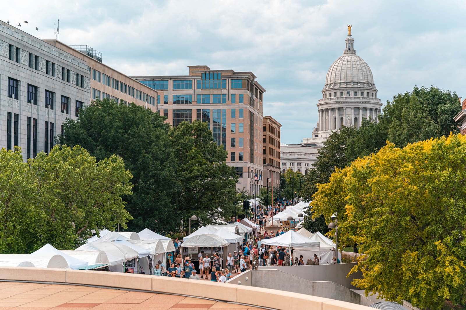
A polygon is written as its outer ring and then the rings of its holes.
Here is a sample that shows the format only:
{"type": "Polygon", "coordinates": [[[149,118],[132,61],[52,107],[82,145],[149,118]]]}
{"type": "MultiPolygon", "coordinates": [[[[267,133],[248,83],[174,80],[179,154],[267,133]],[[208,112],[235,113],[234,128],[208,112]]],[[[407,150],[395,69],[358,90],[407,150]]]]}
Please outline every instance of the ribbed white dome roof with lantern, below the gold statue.
{"type": "Polygon", "coordinates": [[[351,34],[345,40],[346,48],[343,55],[338,57],[327,72],[325,84],[359,82],[374,84],[370,67],[361,57],[356,55],[354,39],[351,34]]]}

